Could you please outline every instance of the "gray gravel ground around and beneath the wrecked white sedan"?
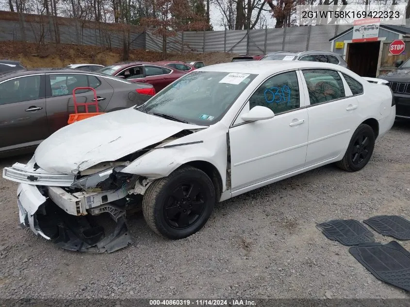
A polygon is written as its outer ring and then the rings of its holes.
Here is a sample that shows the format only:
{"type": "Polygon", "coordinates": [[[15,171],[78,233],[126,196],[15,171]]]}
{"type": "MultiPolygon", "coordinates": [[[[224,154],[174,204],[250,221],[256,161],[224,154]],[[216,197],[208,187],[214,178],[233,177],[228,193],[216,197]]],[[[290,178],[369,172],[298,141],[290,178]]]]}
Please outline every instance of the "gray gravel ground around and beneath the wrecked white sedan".
{"type": "Polygon", "coordinates": [[[98,255],[20,229],[16,184],[0,178],[0,298],[409,298],[315,227],[380,214],[410,219],[409,157],[410,123],[396,122],[360,172],[328,165],[222,202],[201,231],[180,241],[153,234],[134,215],[135,243],[98,255]]]}

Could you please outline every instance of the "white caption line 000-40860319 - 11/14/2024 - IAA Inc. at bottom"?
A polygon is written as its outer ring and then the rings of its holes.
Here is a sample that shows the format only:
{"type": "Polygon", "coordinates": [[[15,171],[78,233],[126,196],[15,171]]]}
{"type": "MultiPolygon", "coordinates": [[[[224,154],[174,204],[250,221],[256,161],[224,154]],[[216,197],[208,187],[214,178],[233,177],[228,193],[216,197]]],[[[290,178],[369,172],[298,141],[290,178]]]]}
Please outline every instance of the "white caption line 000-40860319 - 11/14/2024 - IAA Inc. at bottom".
{"type": "Polygon", "coordinates": [[[256,306],[256,302],[247,299],[230,300],[149,300],[149,306],[256,306]]]}

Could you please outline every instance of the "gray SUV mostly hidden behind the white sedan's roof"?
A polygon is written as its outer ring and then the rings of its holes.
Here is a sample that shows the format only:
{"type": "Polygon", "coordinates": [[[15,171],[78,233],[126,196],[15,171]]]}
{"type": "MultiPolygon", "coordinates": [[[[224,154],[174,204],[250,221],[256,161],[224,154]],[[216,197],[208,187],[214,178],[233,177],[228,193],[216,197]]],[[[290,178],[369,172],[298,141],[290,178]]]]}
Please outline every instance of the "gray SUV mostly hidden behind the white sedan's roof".
{"type": "MultiPolygon", "coordinates": [[[[323,62],[341,65],[347,67],[342,56],[331,51],[301,51],[301,52],[286,52],[277,51],[266,54],[260,61],[266,60],[285,60],[285,61],[311,61],[323,62]]],[[[348,67],[347,67],[348,68],[348,67]]]]}

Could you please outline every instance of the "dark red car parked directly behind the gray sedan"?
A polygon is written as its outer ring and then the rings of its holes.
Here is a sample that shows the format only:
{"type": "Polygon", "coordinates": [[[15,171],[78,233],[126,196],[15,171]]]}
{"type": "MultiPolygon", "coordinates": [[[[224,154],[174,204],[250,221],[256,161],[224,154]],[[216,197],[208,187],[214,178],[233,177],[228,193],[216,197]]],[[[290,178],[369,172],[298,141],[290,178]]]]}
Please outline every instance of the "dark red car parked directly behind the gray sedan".
{"type": "Polygon", "coordinates": [[[148,62],[117,63],[101,68],[98,72],[131,82],[152,84],[157,93],[186,74],[186,72],[178,69],[148,62]]]}

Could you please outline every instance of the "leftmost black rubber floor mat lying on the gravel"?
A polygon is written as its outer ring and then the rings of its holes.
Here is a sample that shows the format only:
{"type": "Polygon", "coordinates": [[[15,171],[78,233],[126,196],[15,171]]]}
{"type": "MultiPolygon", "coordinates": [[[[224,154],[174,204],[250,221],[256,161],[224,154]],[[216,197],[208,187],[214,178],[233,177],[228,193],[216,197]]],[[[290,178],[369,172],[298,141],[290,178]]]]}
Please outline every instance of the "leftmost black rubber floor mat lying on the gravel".
{"type": "Polygon", "coordinates": [[[328,239],[339,241],[343,245],[375,242],[373,233],[356,220],[333,220],[318,224],[317,227],[328,239]]]}

